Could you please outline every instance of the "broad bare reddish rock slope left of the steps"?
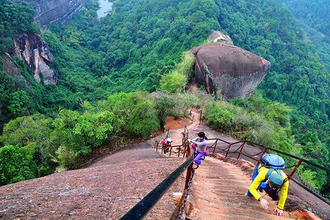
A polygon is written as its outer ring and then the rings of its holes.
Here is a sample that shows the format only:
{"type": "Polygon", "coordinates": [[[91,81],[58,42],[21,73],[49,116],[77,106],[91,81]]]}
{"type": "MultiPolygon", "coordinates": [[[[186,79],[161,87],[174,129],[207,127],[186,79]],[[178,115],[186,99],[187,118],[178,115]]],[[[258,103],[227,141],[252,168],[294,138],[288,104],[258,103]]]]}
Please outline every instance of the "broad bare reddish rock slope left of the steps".
{"type": "MultiPolygon", "coordinates": [[[[153,141],[131,145],[81,170],[55,173],[0,187],[0,219],[120,219],[182,162],[155,153],[153,141]]],[[[146,219],[168,219],[175,209],[172,192],[146,219]]]]}

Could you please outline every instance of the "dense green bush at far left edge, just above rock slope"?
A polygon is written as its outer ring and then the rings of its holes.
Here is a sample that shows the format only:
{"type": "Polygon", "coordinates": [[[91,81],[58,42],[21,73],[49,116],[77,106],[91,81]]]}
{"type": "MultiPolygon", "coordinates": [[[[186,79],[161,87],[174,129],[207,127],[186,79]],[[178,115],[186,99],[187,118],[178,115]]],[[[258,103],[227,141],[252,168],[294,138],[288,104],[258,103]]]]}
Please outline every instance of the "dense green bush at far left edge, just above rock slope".
{"type": "Polygon", "coordinates": [[[0,148],[0,186],[37,177],[32,154],[27,147],[9,145],[0,148]]]}

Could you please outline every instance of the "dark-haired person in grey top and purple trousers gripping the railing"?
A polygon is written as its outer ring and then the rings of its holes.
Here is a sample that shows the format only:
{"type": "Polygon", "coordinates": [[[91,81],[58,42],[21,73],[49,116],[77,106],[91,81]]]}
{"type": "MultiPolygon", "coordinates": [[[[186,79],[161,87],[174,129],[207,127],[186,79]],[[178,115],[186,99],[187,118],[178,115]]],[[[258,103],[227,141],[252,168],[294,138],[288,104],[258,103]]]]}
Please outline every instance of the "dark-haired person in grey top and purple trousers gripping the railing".
{"type": "Polygon", "coordinates": [[[194,162],[198,165],[201,165],[201,160],[204,159],[210,152],[208,151],[208,144],[206,143],[206,134],[203,132],[199,132],[197,137],[190,140],[188,142],[192,143],[192,147],[194,148],[194,153],[196,153],[194,162]]]}

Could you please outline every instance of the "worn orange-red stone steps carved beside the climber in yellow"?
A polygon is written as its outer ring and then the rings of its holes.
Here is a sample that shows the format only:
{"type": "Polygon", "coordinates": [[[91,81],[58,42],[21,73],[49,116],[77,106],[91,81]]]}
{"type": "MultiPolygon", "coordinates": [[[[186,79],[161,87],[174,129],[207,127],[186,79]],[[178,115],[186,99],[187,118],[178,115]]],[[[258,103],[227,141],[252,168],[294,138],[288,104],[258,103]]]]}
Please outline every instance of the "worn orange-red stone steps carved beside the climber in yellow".
{"type": "Polygon", "coordinates": [[[267,210],[253,197],[245,197],[250,183],[250,177],[234,164],[207,157],[195,175],[188,219],[292,219],[289,212],[277,217],[277,203],[270,197],[265,197],[270,202],[267,210]]]}

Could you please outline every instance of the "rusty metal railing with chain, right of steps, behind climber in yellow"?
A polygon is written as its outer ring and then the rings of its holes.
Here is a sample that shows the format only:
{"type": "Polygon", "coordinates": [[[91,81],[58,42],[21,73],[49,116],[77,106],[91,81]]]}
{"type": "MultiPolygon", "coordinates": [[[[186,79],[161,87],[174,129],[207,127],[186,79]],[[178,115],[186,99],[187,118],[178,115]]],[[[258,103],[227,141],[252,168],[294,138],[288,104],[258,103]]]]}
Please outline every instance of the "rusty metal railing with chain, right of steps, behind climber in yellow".
{"type": "Polygon", "coordinates": [[[285,155],[285,157],[289,157],[290,159],[295,159],[296,162],[294,162],[293,164],[290,164],[288,166],[285,166],[285,168],[287,170],[289,170],[290,168],[293,168],[293,170],[291,170],[291,172],[288,174],[288,179],[294,181],[296,184],[298,184],[300,187],[304,188],[305,190],[307,190],[308,192],[311,192],[313,195],[315,195],[316,197],[318,197],[319,199],[321,199],[322,201],[325,201],[326,203],[328,203],[330,205],[330,196],[329,195],[325,195],[322,194],[320,192],[318,192],[318,190],[316,190],[315,188],[312,188],[311,186],[309,186],[309,184],[307,184],[305,181],[303,181],[303,179],[300,177],[300,174],[298,172],[298,168],[301,164],[305,163],[309,166],[314,166],[314,168],[318,168],[320,170],[325,170],[325,172],[330,173],[330,169],[326,168],[324,166],[321,166],[319,164],[316,164],[314,162],[309,162],[307,159],[302,158],[302,157],[297,157],[296,155],[291,155],[289,153],[285,153],[283,151],[279,151],[275,148],[271,148],[271,147],[267,147],[267,146],[263,146],[261,144],[256,144],[254,142],[249,142],[249,141],[239,141],[239,142],[234,142],[234,143],[230,143],[230,142],[226,142],[225,140],[221,140],[219,138],[212,138],[212,139],[208,139],[209,141],[214,140],[215,142],[209,147],[209,148],[213,148],[213,153],[215,153],[216,150],[218,151],[223,151],[225,153],[225,157],[228,157],[229,155],[232,154],[237,154],[236,159],[239,159],[239,157],[241,157],[241,155],[244,155],[245,157],[248,157],[250,159],[253,159],[254,161],[256,161],[257,163],[261,162],[261,157],[269,152],[269,151],[274,151],[275,153],[281,154],[281,155],[285,155]],[[228,146],[226,146],[225,148],[221,148],[218,147],[218,143],[225,143],[228,144],[228,146]],[[238,148],[233,150],[233,146],[235,145],[239,145],[238,148]],[[248,153],[245,149],[246,146],[253,146],[254,149],[259,149],[259,152],[256,153],[248,153]],[[259,156],[260,155],[260,156],[259,156]],[[259,157],[256,157],[259,156],[259,157]],[[294,174],[297,174],[298,179],[294,178],[294,174]]]}

